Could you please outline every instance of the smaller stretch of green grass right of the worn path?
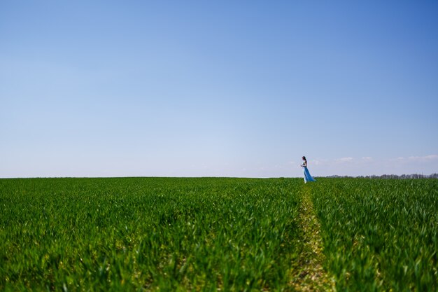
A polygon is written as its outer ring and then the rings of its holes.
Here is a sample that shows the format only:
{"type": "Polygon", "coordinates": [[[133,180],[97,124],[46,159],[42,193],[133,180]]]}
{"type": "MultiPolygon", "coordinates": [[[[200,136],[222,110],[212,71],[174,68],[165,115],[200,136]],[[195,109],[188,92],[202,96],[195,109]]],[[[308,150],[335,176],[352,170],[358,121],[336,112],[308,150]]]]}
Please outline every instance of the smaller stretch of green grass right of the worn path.
{"type": "Polygon", "coordinates": [[[438,291],[438,180],[320,179],[313,204],[339,291],[438,291]]]}

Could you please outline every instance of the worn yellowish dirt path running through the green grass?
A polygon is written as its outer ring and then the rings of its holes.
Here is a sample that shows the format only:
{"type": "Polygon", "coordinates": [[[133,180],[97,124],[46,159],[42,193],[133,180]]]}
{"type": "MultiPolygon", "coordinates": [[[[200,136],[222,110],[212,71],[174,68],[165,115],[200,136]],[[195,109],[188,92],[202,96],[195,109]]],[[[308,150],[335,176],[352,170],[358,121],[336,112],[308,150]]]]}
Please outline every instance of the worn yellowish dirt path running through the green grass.
{"type": "Polygon", "coordinates": [[[320,236],[320,223],[313,210],[311,187],[302,188],[299,225],[303,230],[303,249],[299,256],[299,265],[292,278],[296,291],[334,291],[330,277],[323,269],[323,239],[320,236]]]}

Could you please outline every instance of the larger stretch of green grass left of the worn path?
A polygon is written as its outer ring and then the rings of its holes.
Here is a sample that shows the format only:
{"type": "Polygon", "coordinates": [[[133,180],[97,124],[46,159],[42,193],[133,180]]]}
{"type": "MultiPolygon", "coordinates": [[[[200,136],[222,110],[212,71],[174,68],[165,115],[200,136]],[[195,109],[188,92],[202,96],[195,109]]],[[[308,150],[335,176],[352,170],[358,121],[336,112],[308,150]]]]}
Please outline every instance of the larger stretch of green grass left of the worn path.
{"type": "Polygon", "coordinates": [[[1,180],[0,288],[281,291],[291,179],[1,180]]]}

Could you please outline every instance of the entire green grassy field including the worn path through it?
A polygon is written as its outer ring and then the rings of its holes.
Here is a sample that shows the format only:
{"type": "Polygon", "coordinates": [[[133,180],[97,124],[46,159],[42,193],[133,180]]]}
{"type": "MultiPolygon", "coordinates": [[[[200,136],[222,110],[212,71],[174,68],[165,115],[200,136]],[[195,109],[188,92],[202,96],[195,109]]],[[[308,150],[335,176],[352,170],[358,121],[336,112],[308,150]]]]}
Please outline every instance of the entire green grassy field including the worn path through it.
{"type": "Polygon", "coordinates": [[[0,179],[0,208],[0,291],[438,290],[437,179],[0,179]]]}

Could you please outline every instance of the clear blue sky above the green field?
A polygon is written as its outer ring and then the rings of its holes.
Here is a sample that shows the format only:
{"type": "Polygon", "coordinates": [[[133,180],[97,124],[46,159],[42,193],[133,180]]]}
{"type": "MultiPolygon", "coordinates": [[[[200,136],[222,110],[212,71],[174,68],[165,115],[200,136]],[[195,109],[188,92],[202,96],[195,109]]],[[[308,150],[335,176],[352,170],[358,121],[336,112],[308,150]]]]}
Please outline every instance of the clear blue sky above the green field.
{"type": "Polygon", "coordinates": [[[1,1],[0,177],[438,172],[437,32],[437,1],[1,1]]]}

